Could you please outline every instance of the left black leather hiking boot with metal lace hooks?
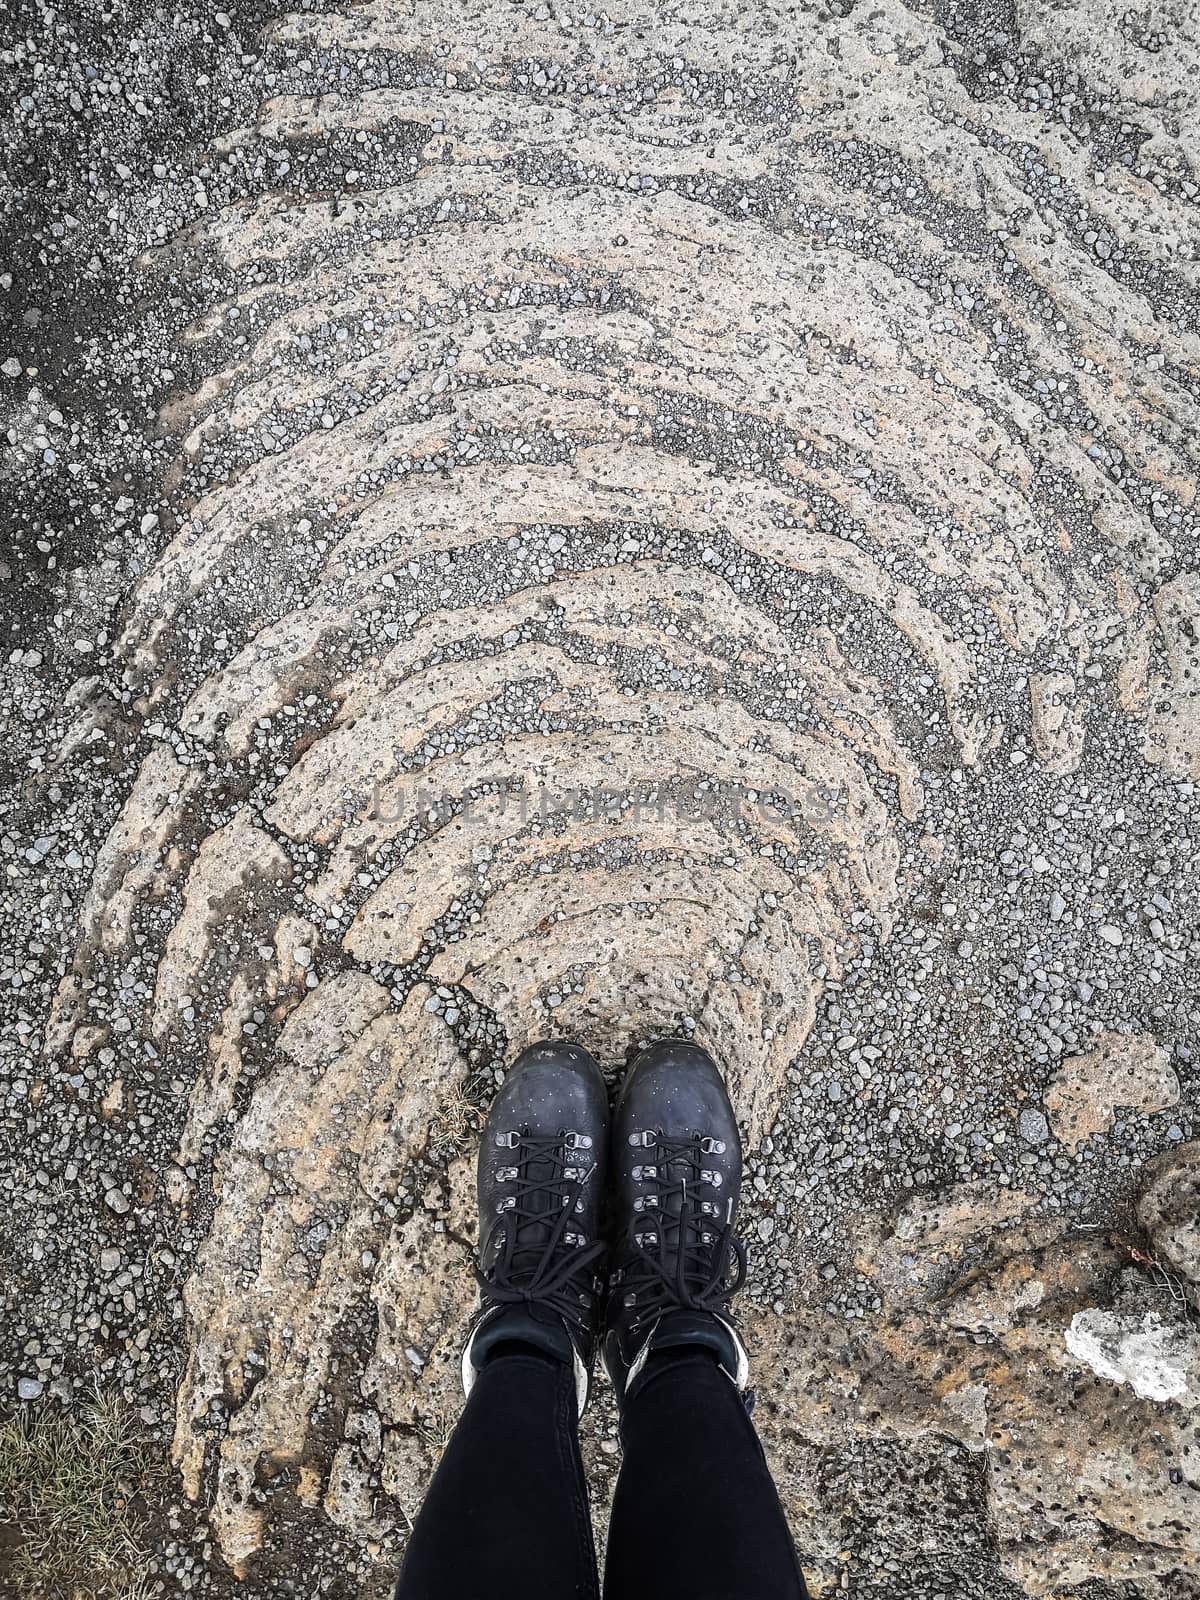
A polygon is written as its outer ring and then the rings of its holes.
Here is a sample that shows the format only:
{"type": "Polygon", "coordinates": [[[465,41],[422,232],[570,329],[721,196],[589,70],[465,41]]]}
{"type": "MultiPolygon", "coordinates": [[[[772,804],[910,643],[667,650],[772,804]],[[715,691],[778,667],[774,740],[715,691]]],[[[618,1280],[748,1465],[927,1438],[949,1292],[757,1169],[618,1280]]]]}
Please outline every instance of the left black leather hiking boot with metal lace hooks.
{"type": "Polygon", "coordinates": [[[530,1045],[496,1093],[478,1152],[482,1307],[462,1387],[498,1346],[533,1346],[574,1370],[587,1403],[598,1323],[608,1093],[586,1050],[530,1045]]]}

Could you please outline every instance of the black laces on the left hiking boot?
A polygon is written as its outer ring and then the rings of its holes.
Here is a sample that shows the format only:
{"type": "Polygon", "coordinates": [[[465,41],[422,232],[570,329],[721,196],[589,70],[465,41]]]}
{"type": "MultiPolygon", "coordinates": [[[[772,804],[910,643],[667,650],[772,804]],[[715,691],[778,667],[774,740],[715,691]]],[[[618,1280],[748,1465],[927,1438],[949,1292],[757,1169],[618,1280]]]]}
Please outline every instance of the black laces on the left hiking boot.
{"type": "Polygon", "coordinates": [[[598,1288],[590,1267],[603,1256],[605,1243],[574,1245],[565,1235],[574,1232],[574,1203],[595,1168],[589,1166],[582,1178],[566,1176],[579,1158],[563,1133],[515,1138],[510,1165],[517,1176],[506,1186],[512,1205],[504,1211],[504,1243],[490,1274],[477,1267],[475,1277],[493,1301],[549,1306],[582,1330],[598,1288]]]}

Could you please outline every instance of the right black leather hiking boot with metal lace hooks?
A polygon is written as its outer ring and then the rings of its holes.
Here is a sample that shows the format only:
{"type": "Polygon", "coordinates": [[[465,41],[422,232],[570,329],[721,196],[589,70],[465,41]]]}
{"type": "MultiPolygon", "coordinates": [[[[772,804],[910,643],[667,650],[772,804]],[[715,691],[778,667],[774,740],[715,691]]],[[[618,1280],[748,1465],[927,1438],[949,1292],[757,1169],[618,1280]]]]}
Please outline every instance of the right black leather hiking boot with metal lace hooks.
{"type": "Polygon", "coordinates": [[[603,1363],[619,1397],[653,1354],[686,1346],[746,1387],[746,1346],[730,1315],[746,1277],[733,1234],[741,1178],[738,1120],[712,1056],[683,1038],[650,1045],[613,1117],[619,1242],[603,1363]]]}

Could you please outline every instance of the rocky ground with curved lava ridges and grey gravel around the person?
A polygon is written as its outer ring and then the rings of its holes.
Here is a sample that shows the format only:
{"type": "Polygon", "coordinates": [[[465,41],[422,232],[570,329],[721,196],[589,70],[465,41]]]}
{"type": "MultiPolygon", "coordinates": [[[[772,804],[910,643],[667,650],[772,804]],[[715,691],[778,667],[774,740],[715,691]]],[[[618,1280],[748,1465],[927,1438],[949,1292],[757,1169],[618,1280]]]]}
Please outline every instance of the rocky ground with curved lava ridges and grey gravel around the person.
{"type": "Polygon", "coordinates": [[[488,1093],[670,1029],[814,1594],[1200,1594],[1194,11],[6,21],[0,1382],[141,1592],[389,1592],[488,1093]]]}

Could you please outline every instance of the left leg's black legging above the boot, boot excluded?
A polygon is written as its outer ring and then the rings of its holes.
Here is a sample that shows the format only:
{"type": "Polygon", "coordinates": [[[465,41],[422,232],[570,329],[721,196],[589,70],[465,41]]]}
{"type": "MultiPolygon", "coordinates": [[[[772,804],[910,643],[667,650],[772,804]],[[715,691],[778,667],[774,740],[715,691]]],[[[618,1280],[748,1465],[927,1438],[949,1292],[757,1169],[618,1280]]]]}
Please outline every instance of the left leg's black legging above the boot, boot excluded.
{"type": "Polygon", "coordinates": [[[397,1600],[595,1594],[574,1376],[533,1347],[498,1347],[418,1514],[397,1600]]]}

